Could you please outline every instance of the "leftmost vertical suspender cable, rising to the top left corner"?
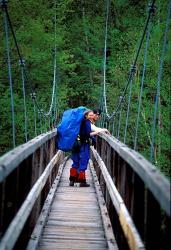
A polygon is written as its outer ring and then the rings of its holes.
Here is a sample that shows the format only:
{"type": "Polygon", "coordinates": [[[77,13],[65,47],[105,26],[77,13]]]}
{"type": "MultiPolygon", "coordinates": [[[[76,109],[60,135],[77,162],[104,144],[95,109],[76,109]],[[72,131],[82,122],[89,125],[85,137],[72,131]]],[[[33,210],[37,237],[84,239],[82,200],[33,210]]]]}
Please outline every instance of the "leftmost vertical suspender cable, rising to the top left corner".
{"type": "MultiPolygon", "coordinates": [[[[2,7],[6,9],[5,1],[2,7]]],[[[8,61],[8,78],[10,83],[10,95],[11,95],[11,114],[12,114],[12,138],[13,138],[13,148],[16,146],[15,139],[15,114],[14,114],[14,96],[13,96],[13,83],[12,83],[12,70],[11,70],[11,58],[10,58],[10,48],[9,48],[9,34],[8,34],[8,19],[6,12],[4,12],[4,26],[5,26],[5,36],[6,36],[6,51],[7,51],[7,61],[8,61]]]]}

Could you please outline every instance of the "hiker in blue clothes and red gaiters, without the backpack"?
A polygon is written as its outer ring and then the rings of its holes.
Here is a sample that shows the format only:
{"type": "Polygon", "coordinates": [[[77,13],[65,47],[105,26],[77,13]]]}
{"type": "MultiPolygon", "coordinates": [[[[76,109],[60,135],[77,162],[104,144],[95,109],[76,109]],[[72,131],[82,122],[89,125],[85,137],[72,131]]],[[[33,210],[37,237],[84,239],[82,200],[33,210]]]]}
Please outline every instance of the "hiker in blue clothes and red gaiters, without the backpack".
{"type": "Polygon", "coordinates": [[[86,182],[85,171],[90,159],[90,138],[97,135],[98,131],[92,131],[91,124],[93,122],[94,113],[88,110],[84,114],[79,133],[80,146],[76,152],[73,152],[71,159],[73,160],[70,169],[70,186],[74,186],[74,182],[80,182],[80,187],[89,187],[86,182]]]}

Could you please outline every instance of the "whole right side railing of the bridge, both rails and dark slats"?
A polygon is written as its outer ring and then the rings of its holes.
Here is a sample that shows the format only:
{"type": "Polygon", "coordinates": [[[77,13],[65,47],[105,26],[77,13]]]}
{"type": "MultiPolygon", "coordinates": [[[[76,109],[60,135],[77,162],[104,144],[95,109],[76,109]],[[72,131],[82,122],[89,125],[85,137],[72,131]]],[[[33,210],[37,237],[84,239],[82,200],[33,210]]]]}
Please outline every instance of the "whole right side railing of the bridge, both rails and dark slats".
{"type": "Polygon", "coordinates": [[[168,249],[169,181],[142,155],[114,137],[101,134],[96,150],[92,147],[92,160],[119,249],[168,249]]]}

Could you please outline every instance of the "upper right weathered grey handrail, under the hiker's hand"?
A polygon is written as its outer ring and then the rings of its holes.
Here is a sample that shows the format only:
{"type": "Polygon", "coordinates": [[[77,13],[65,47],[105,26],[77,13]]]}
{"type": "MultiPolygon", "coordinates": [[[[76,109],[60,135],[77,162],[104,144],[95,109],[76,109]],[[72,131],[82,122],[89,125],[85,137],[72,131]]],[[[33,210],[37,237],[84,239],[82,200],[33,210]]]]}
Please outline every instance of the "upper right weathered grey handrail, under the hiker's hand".
{"type": "Polygon", "coordinates": [[[126,161],[147,185],[160,206],[171,216],[171,183],[163,174],[138,152],[130,149],[112,136],[100,133],[109,145],[126,161]]]}

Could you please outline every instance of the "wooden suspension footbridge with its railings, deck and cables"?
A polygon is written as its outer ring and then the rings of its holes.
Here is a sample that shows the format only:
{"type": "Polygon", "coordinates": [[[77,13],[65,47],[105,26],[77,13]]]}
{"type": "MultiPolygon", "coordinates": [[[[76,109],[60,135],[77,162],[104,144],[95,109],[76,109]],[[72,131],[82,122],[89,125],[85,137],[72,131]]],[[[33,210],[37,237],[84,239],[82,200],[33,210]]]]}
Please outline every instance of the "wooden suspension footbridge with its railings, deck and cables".
{"type": "MultiPolygon", "coordinates": [[[[55,1],[56,4],[56,1],[55,1]]],[[[171,246],[171,197],[169,178],[159,170],[156,157],[156,135],[160,87],[164,75],[171,1],[168,1],[161,54],[152,100],[151,134],[144,112],[143,93],[155,1],[148,9],[147,20],[139,41],[128,79],[113,112],[107,100],[106,64],[110,2],[106,1],[103,81],[99,107],[99,125],[110,135],[100,133],[96,148],[91,146],[87,180],[90,187],[69,186],[69,154],[56,150],[57,129],[57,27],[54,18],[55,48],[53,84],[49,109],[45,111],[30,80],[26,62],[15,34],[8,2],[0,1],[4,27],[4,46],[11,105],[12,147],[0,158],[0,249],[147,249],[167,250],[171,246]],[[9,36],[10,33],[10,36],[9,36]],[[14,86],[10,39],[13,39],[21,70],[24,141],[17,145],[14,86]],[[144,47],[143,47],[144,46],[144,47]],[[131,110],[138,59],[143,53],[141,83],[137,109],[131,110]],[[26,84],[33,102],[32,136],[28,128],[26,84]],[[133,116],[131,116],[133,115],[133,116]],[[39,118],[39,119],[38,119],[39,118]],[[140,126],[147,134],[149,157],[140,152],[140,126]],[[135,121],[130,128],[130,120],[135,121]]],[[[135,98],[135,97],[134,97],[135,98]]],[[[0,107],[1,109],[1,107],[0,107]]],[[[160,124],[159,124],[160,125],[160,124]]]]}

